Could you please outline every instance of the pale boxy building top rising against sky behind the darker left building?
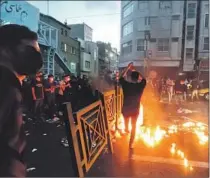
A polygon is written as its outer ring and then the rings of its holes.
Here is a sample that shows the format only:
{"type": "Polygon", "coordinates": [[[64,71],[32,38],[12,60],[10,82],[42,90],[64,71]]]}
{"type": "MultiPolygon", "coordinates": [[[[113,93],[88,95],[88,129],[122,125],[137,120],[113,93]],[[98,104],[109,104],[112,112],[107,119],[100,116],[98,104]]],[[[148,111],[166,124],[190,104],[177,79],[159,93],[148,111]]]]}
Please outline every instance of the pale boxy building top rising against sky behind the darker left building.
{"type": "Polygon", "coordinates": [[[71,37],[80,38],[84,41],[92,41],[93,29],[87,24],[71,24],[69,27],[71,28],[71,37]]]}

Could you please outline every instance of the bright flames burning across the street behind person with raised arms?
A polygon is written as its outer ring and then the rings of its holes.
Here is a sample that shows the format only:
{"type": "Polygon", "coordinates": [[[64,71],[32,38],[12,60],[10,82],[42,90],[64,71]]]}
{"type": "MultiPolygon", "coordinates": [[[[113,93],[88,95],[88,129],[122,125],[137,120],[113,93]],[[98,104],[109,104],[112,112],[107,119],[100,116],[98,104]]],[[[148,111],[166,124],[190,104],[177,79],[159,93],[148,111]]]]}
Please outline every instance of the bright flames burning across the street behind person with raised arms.
{"type": "MultiPolygon", "coordinates": [[[[179,133],[180,131],[187,131],[196,135],[198,143],[202,145],[207,145],[208,143],[208,129],[204,126],[203,123],[194,123],[194,122],[184,122],[182,124],[172,124],[166,128],[161,128],[160,126],[144,126],[143,117],[144,117],[143,105],[140,105],[140,114],[138,116],[137,125],[136,125],[136,141],[143,141],[143,143],[151,148],[155,148],[158,144],[161,144],[161,141],[170,137],[174,134],[179,133]],[[206,133],[207,132],[207,133],[206,133]]],[[[120,133],[125,133],[124,118],[121,115],[119,119],[119,131],[116,132],[116,138],[121,137],[120,133]]],[[[129,131],[131,131],[132,125],[129,123],[129,131]]],[[[178,149],[176,143],[172,143],[171,148],[169,149],[172,156],[177,156],[179,159],[183,160],[183,165],[186,169],[192,171],[193,167],[189,165],[189,161],[186,158],[185,153],[178,149]]]]}

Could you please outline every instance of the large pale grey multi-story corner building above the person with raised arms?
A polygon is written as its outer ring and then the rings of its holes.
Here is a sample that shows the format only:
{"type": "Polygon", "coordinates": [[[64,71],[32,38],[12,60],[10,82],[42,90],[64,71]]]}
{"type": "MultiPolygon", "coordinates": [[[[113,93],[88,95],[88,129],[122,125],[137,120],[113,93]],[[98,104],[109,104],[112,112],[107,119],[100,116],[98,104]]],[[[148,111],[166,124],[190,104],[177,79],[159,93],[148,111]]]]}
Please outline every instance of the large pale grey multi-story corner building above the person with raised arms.
{"type": "Polygon", "coordinates": [[[180,66],[184,1],[122,1],[119,67],[129,62],[160,75],[180,66]]]}

